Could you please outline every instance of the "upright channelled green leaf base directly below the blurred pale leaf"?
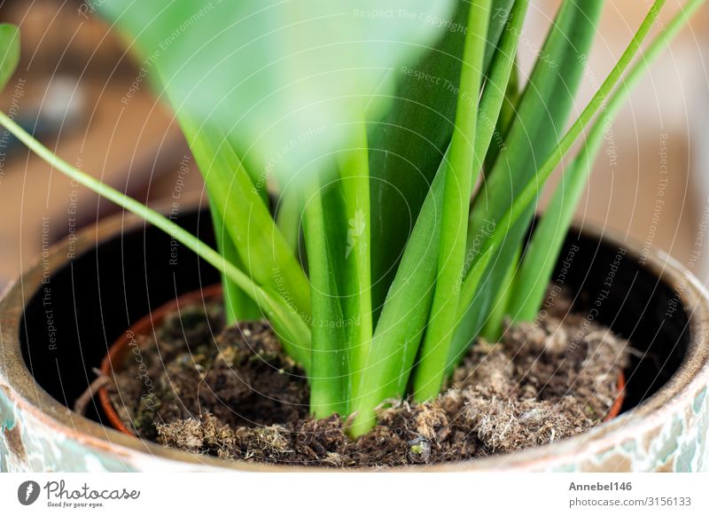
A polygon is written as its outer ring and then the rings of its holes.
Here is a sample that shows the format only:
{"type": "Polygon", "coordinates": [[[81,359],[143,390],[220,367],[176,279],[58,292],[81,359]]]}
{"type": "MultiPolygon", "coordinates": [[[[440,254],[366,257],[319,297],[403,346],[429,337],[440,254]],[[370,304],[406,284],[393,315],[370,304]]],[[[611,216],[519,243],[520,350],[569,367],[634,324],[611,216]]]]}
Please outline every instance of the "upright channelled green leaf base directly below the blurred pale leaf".
{"type": "Polygon", "coordinates": [[[367,135],[340,152],[339,176],[310,187],[305,240],[313,300],[311,410],[345,416],[369,355],[370,184],[367,135]]]}

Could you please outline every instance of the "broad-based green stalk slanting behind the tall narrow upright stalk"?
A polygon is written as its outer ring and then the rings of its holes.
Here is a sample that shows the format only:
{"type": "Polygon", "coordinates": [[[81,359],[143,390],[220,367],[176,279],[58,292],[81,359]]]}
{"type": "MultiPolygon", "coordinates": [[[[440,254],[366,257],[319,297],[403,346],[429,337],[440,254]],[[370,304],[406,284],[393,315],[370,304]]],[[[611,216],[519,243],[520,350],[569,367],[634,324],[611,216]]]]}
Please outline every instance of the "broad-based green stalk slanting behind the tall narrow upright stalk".
{"type": "MultiPolygon", "coordinates": [[[[487,153],[490,139],[503,104],[505,85],[509,81],[518,38],[528,2],[518,0],[513,6],[510,27],[503,31],[487,76],[478,109],[478,130],[475,134],[474,165],[487,153]],[[493,122],[490,122],[493,121],[493,122]]],[[[386,295],[384,309],[372,337],[367,368],[362,385],[368,387],[354,399],[354,418],[350,432],[365,434],[375,423],[374,410],[383,400],[403,395],[412,371],[417,349],[431,312],[433,290],[438,270],[443,191],[450,146],[440,161],[431,188],[386,295]]]]}

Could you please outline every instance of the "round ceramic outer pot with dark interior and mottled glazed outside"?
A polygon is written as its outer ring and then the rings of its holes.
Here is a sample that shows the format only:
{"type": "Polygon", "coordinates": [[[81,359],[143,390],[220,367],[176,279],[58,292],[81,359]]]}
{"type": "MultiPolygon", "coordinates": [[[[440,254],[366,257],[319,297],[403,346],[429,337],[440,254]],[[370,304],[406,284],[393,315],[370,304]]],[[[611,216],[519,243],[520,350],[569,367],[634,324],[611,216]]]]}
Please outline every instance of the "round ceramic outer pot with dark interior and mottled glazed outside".
{"type": "MultiPolygon", "coordinates": [[[[184,210],[179,222],[211,238],[206,213],[184,210]]],[[[555,273],[578,293],[578,309],[641,351],[627,371],[624,413],[534,449],[407,470],[709,471],[709,298],[673,259],[641,249],[588,227],[574,230],[555,273]]],[[[114,217],[47,249],[0,301],[0,469],[314,471],[168,450],[100,424],[105,415],[96,406],[87,417],[67,408],[121,332],[217,280],[194,255],[132,217],[114,217]]]]}

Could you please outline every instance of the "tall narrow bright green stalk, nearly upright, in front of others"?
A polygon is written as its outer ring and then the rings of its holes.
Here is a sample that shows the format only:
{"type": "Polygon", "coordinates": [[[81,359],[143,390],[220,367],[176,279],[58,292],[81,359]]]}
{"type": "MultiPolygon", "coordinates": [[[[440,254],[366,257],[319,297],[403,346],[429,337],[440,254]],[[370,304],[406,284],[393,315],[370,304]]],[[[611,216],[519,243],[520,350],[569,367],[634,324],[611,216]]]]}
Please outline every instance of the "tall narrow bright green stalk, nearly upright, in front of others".
{"type": "Polygon", "coordinates": [[[479,168],[473,168],[474,142],[489,12],[490,0],[475,0],[471,4],[456,106],[456,127],[450,142],[443,193],[438,277],[421,358],[414,373],[414,397],[419,402],[431,399],[440,391],[448,361],[448,346],[456,325],[465,264],[468,211],[474,184],[472,175],[479,172],[479,168]]]}

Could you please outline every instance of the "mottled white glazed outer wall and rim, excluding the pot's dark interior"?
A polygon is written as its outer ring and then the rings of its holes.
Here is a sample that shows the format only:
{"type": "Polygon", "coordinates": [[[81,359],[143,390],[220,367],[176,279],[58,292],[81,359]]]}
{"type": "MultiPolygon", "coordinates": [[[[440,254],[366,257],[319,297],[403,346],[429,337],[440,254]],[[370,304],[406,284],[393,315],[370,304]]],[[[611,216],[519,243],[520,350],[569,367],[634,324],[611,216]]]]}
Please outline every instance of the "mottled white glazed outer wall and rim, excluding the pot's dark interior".
{"type": "MultiPolygon", "coordinates": [[[[142,223],[113,218],[75,238],[77,254],[142,223]]],[[[588,235],[588,231],[584,231],[588,235]]],[[[591,233],[593,234],[593,233],[591,233]]],[[[604,236],[605,241],[609,241],[604,236]]],[[[611,242],[615,242],[610,238],[611,242]]],[[[618,240],[619,242],[619,240],[618,240]]],[[[623,246],[627,246],[624,243],[623,246]]],[[[633,249],[628,256],[635,259],[633,249]]],[[[283,465],[222,461],[168,450],[83,418],[39,387],[19,342],[27,299],[66,264],[66,243],[11,285],[0,301],[0,470],[2,471],[297,471],[283,465]]],[[[509,455],[409,471],[709,471],[709,304],[703,285],[665,254],[646,267],[676,291],[689,317],[689,348],[674,376],[639,406],[587,434],[509,455]]],[[[314,468],[308,468],[314,471],[314,468]]],[[[328,471],[332,471],[331,469],[328,471]]]]}

